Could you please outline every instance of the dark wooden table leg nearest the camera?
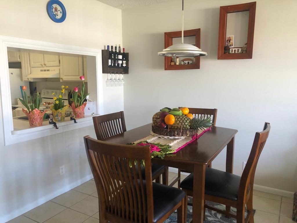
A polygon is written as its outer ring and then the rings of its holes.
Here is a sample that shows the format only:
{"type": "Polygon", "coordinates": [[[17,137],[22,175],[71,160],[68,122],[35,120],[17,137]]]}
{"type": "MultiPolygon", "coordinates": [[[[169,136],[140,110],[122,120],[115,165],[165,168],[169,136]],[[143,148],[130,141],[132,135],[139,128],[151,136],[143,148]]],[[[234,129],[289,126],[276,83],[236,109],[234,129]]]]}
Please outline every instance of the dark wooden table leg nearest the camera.
{"type": "Polygon", "coordinates": [[[194,165],[193,223],[203,223],[205,165],[194,165]]]}

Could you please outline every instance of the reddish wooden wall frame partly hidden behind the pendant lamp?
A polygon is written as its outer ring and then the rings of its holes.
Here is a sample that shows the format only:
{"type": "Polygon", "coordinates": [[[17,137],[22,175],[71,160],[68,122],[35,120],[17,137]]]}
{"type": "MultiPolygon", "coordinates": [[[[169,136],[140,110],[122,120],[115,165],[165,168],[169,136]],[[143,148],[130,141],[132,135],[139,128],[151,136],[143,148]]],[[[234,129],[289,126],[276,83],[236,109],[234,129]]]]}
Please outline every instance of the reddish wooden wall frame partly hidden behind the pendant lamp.
{"type": "MultiPolygon", "coordinates": [[[[165,32],[165,48],[181,43],[181,31],[165,32]]],[[[184,30],[184,43],[192,44],[200,48],[200,29],[184,30]]],[[[200,69],[200,57],[169,57],[165,56],[165,70],[190,70],[200,69]],[[171,64],[172,63],[172,64],[171,64]],[[177,65],[178,64],[178,65],[177,65]]]]}

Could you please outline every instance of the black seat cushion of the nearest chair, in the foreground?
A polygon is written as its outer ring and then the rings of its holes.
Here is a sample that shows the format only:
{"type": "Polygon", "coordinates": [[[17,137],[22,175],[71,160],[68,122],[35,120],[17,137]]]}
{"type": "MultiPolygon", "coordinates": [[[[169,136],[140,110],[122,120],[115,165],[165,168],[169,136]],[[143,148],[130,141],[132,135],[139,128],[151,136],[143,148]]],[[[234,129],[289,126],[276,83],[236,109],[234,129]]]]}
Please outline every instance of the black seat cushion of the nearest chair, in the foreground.
{"type": "MultiPolygon", "coordinates": [[[[137,180],[140,184],[140,180],[137,180]]],[[[160,183],[153,184],[153,203],[154,203],[154,222],[159,221],[167,214],[174,206],[176,206],[186,196],[186,193],[175,187],[166,186],[160,183]]],[[[143,180],[145,198],[146,196],[146,181],[143,180]]],[[[125,187],[123,187],[124,190],[125,187]]],[[[135,187],[136,191],[136,187],[135,187]]],[[[129,202],[129,201],[128,201],[129,202]]],[[[138,206],[138,205],[137,205],[138,206]]],[[[129,205],[130,208],[130,205],[129,205]]],[[[141,209],[143,215],[143,210],[141,209]]],[[[138,216],[138,213],[137,213],[138,216]]],[[[147,216],[146,216],[147,217],[147,216]]]]}

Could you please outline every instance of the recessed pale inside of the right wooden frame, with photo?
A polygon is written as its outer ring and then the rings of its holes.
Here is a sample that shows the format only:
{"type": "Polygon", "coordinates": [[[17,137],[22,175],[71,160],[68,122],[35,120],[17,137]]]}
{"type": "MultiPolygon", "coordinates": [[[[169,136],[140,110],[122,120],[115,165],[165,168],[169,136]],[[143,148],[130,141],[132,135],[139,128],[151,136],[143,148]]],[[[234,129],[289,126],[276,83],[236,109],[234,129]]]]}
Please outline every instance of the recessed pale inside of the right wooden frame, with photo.
{"type": "Polygon", "coordinates": [[[232,12],[227,14],[225,54],[247,52],[248,26],[249,11],[232,12]]]}

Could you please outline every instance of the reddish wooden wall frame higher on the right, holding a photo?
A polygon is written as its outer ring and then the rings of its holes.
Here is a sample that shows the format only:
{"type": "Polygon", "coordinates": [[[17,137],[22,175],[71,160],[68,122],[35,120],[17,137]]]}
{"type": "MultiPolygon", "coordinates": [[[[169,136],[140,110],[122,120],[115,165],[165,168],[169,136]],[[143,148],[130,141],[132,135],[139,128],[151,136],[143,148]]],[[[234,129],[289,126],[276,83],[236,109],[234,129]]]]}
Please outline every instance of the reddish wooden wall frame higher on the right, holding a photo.
{"type": "Polygon", "coordinates": [[[218,59],[252,59],[256,2],[220,7],[218,59]]]}

